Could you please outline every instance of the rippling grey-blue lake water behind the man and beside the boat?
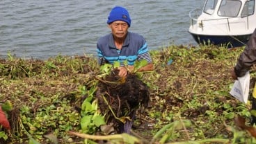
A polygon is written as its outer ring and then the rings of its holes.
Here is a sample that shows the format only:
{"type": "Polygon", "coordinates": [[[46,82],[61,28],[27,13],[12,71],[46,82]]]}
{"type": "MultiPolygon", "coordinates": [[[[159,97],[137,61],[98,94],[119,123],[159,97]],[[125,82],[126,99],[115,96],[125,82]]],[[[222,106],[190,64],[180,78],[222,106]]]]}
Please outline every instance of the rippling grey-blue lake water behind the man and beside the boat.
{"type": "Polygon", "coordinates": [[[188,33],[189,11],[202,0],[1,0],[0,57],[47,59],[56,55],[96,54],[99,37],[111,33],[111,8],[124,6],[129,31],[143,35],[150,50],[172,44],[196,45],[188,33]]]}

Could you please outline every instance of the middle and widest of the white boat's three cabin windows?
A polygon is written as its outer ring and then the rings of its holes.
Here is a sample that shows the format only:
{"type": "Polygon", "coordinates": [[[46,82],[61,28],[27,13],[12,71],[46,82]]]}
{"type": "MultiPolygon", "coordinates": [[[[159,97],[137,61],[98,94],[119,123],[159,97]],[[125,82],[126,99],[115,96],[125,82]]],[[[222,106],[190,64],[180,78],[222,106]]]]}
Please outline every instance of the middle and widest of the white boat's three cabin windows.
{"type": "Polygon", "coordinates": [[[218,9],[218,15],[221,17],[235,17],[239,14],[241,1],[238,0],[223,0],[218,9]]]}

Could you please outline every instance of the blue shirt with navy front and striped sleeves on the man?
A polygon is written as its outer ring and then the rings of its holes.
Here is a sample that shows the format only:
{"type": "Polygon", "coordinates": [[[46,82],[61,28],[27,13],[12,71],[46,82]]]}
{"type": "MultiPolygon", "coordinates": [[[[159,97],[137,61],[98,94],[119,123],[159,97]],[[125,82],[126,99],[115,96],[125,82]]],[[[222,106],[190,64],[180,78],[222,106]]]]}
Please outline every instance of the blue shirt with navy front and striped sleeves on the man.
{"type": "Polygon", "coordinates": [[[127,60],[128,65],[134,65],[136,60],[147,60],[147,63],[152,63],[145,39],[141,35],[130,32],[127,33],[121,50],[115,47],[112,33],[99,38],[97,54],[100,65],[105,63],[113,64],[113,62],[117,61],[120,62],[121,66],[124,66],[125,60],[127,60]]]}

